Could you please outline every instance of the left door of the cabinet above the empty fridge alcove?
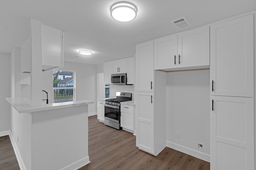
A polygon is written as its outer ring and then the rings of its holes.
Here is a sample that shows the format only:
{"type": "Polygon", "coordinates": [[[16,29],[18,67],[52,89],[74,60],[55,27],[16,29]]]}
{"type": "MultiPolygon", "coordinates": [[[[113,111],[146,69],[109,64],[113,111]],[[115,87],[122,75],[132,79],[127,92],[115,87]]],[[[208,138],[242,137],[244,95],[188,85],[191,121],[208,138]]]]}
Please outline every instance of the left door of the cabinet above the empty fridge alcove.
{"type": "Polygon", "coordinates": [[[178,36],[169,35],[154,40],[154,69],[176,68],[178,36]]]}

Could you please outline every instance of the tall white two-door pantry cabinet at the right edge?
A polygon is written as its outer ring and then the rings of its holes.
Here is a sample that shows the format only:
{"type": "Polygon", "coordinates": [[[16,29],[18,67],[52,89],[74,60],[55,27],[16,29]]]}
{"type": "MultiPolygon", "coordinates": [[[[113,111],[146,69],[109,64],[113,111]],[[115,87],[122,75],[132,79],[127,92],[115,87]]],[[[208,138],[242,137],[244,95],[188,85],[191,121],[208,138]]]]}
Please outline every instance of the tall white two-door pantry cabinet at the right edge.
{"type": "Polygon", "coordinates": [[[210,168],[254,170],[254,16],[210,25],[210,168]]]}

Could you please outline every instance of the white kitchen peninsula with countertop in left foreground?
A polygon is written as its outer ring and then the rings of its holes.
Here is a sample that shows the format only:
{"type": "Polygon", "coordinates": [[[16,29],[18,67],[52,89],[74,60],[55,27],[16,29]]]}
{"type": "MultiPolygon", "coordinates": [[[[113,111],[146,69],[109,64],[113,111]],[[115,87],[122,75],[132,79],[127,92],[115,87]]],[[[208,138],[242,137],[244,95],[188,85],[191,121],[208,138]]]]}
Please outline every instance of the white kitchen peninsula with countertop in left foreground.
{"type": "Polygon", "coordinates": [[[22,169],[77,169],[88,163],[88,104],[81,100],[32,107],[26,98],[12,105],[12,140],[22,169]]]}

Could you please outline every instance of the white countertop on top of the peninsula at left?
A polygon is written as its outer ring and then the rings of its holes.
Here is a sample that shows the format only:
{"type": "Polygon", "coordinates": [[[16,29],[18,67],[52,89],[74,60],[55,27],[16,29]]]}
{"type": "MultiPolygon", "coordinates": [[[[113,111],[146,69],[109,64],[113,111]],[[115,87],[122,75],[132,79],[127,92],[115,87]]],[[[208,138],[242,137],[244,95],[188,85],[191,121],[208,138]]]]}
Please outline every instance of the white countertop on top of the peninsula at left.
{"type": "Polygon", "coordinates": [[[42,106],[32,107],[30,105],[30,100],[27,98],[6,98],[6,100],[14,107],[19,113],[28,113],[35,111],[43,111],[50,109],[59,109],[64,107],[72,107],[79,105],[93,104],[90,100],[78,100],[73,102],[62,102],[62,103],[52,103],[52,104],[42,104],[42,106]]]}

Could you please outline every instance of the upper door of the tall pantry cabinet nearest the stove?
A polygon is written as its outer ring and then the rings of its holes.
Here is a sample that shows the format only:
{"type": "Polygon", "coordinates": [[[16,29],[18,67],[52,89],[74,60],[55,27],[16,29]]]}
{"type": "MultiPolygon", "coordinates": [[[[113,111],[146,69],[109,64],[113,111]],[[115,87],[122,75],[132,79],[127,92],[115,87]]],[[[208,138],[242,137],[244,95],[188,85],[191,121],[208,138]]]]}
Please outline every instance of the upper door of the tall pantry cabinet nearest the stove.
{"type": "Polygon", "coordinates": [[[154,43],[147,41],[136,45],[136,91],[153,92],[154,43]]]}

